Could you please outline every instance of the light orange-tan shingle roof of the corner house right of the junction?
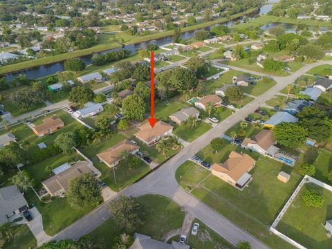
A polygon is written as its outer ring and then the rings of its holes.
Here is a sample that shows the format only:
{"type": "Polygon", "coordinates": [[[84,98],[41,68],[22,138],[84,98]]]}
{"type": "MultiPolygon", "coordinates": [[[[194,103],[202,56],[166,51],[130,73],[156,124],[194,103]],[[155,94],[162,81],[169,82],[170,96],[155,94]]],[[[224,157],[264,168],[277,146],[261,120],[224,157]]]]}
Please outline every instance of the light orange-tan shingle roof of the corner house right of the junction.
{"type": "Polygon", "coordinates": [[[251,156],[232,151],[225,163],[214,163],[212,170],[228,174],[234,181],[238,181],[255,163],[251,156]]]}

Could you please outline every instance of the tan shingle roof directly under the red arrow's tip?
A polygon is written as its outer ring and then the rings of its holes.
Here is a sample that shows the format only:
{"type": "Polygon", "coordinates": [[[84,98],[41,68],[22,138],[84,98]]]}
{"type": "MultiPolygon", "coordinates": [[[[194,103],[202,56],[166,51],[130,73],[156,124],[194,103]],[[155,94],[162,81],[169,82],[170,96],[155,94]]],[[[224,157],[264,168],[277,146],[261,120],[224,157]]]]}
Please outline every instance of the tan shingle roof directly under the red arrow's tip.
{"type": "Polygon", "coordinates": [[[142,124],[140,127],[138,127],[140,131],[135,133],[135,136],[138,138],[141,138],[142,140],[145,140],[146,142],[151,142],[154,139],[156,139],[158,136],[162,136],[167,131],[170,131],[173,129],[172,125],[167,124],[163,121],[158,121],[156,124],[154,124],[154,127],[152,128],[149,122],[142,124]]]}

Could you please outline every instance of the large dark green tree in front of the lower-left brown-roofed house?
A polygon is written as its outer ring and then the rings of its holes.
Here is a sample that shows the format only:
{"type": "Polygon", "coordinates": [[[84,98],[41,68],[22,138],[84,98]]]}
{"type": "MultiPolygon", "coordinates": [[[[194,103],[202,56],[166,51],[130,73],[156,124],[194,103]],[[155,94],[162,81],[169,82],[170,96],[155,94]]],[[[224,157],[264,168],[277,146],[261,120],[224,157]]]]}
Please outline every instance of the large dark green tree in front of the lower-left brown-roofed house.
{"type": "Polygon", "coordinates": [[[91,173],[85,173],[71,179],[67,198],[73,208],[82,209],[98,205],[102,196],[97,178],[91,173]]]}

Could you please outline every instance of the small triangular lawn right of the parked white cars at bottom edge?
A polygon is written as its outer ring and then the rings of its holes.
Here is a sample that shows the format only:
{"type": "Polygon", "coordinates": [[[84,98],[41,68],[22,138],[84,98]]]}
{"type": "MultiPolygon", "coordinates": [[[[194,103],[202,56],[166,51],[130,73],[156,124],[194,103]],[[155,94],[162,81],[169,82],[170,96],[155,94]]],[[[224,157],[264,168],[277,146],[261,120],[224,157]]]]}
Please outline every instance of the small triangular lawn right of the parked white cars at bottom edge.
{"type": "Polygon", "coordinates": [[[223,239],[219,234],[214,232],[211,228],[201,222],[199,219],[194,219],[192,222],[199,223],[199,232],[196,236],[189,234],[188,245],[191,248],[204,248],[204,249],[232,249],[231,243],[223,239]]]}

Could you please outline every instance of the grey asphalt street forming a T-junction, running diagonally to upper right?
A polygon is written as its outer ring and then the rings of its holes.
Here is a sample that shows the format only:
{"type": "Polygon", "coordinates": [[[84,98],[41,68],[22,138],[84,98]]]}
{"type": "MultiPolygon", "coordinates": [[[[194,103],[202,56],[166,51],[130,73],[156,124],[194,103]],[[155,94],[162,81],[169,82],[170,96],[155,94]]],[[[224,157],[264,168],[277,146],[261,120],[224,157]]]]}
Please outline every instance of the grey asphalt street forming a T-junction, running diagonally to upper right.
{"type": "MultiPolygon", "coordinates": [[[[151,172],[151,174],[143,178],[141,181],[127,187],[119,194],[126,194],[127,196],[161,194],[163,196],[167,196],[179,205],[183,206],[187,212],[190,212],[192,215],[196,216],[203,223],[212,228],[212,230],[230,241],[230,243],[236,245],[239,241],[245,240],[250,241],[252,248],[268,248],[268,246],[264,243],[255,237],[252,237],[251,234],[248,234],[248,232],[242,230],[237,225],[234,225],[228,219],[225,219],[224,216],[196,199],[196,197],[192,196],[192,194],[185,192],[185,190],[183,190],[178,183],[176,183],[174,178],[176,169],[188,160],[190,156],[196,154],[196,152],[208,145],[213,138],[221,136],[230,127],[234,126],[234,124],[237,124],[237,122],[243,120],[243,118],[245,118],[249,113],[254,112],[255,109],[266,102],[266,100],[273,98],[274,95],[293,82],[297,77],[303,75],[306,71],[315,66],[331,63],[332,61],[322,61],[307,64],[303,68],[299,69],[299,71],[289,75],[288,77],[274,77],[277,82],[275,86],[191,142],[172,159],[168,160],[166,163],[161,165],[161,167],[156,169],[156,171],[151,172]]],[[[246,71],[242,68],[235,69],[246,71]]],[[[260,73],[255,71],[248,72],[260,75],[260,73]]],[[[111,215],[107,210],[107,204],[108,202],[104,203],[93,212],[82,217],[82,219],[76,221],[68,228],[55,235],[53,239],[79,239],[84,234],[91,232],[111,215]]]]}

